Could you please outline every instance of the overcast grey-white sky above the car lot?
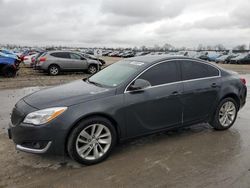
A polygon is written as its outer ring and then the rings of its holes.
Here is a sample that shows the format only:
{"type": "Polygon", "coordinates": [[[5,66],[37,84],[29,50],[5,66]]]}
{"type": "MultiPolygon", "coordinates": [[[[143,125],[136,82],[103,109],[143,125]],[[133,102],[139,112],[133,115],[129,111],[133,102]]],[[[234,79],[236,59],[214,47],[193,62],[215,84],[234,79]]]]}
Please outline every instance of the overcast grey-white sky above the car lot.
{"type": "Polygon", "coordinates": [[[0,0],[0,43],[249,45],[250,0],[0,0]]]}

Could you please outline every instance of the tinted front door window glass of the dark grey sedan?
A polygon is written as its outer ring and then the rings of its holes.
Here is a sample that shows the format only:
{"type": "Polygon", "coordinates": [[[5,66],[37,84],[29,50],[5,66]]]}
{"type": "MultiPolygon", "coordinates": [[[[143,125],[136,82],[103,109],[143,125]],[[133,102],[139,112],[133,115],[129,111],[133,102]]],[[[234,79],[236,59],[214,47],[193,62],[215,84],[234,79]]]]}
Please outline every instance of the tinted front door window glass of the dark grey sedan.
{"type": "Polygon", "coordinates": [[[180,81],[177,62],[171,61],[156,65],[139,78],[149,81],[152,86],[180,81]]]}

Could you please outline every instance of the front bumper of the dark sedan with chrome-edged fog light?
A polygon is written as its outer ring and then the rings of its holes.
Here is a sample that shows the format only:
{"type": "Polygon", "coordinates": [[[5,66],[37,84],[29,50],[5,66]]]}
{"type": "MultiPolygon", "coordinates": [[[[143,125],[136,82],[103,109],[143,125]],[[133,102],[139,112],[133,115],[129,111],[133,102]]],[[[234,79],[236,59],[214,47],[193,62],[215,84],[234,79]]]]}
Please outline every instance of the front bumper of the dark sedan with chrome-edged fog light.
{"type": "Polygon", "coordinates": [[[9,138],[15,143],[16,149],[34,154],[65,153],[65,132],[53,130],[50,126],[32,126],[21,123],[9,125],[9,138]]]}

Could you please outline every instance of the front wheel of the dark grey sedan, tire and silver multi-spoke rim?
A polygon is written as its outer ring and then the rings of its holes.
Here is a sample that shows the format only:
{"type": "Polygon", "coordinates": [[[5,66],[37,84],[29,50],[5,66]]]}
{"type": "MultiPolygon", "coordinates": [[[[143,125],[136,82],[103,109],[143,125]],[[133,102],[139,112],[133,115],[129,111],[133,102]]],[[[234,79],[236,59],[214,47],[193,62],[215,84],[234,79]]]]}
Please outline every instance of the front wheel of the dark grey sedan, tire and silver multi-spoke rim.
{"type": "Polygon", "coordinates": [[[116,130],[112,123],[106,118],[93,117],[81,121],[72,130],[67,151],[73,160],[84,165],[93,165],[109,156],[116,140],[116,130]]]}

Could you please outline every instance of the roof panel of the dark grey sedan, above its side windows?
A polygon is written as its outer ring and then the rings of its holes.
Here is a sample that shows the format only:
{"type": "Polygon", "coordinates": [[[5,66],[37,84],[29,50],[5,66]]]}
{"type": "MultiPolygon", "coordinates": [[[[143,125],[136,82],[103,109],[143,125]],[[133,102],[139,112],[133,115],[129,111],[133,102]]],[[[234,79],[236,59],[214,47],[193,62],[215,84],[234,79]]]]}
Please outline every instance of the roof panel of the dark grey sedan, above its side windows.
{"type": "Polygon", "coordinates": [[[148,63],[148,64],[154,64],[159,61],[175,60],[175,59],[189,59],[189,60],[196,60],[196,61],[198,60],[198,61],[204,62],[200,59],[190,58],[186,56],[178,56],[178,55],[145,55],[145,56],[136,56],[136,57],[128,58],[128,60],[131,60],[131,61],[141,61],[141,62],[148,63]]]}

